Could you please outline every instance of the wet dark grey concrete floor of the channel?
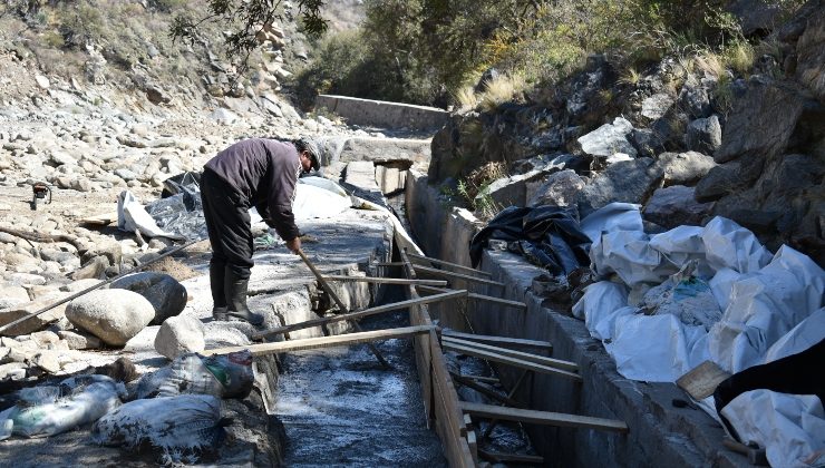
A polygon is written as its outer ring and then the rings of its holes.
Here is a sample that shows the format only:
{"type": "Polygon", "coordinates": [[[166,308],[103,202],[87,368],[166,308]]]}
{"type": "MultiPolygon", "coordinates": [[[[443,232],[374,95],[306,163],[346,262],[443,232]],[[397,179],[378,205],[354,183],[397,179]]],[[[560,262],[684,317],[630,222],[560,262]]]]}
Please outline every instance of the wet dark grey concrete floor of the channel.
{"type": "MultiPolygon", "coordinates": [[[[402,300],[397,292],[387,302],[402,300]]],[[[365,330],[409,324],[407,313],[373,316],[365,330]]],[[[411,340],[282,355],[275,415],[287,432],[287,466],[447,466],[426,426],[411,340]]]]}

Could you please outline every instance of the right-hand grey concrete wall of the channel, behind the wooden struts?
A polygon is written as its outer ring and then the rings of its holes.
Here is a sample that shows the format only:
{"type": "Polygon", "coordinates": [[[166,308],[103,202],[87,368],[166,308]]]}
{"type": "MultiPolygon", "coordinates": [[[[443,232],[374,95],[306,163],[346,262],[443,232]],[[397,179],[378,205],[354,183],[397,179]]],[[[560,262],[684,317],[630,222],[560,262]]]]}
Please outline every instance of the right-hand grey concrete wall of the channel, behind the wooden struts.
{"type": "MultiPolygon", "coordinates": [[[[467,247],[479,228],[472,214],[439,203],[426,177],[407,177],[407,213],[414,234],[429,256],[469,266],[467,247]]],[[[674,384],[624,379],[604,347],[590,337],[584,322],[531,291],[533,277],[544,270],[521,256],[486,251],[481,269],[506,284],[474,287],[475,292],[522,301],[526,311],[496,304],[476,304],[468,311],[476,333],[553,343],[553,357],[579,364],[584,380],[578,384],[557,377],[534,374],[516,399],[531,409],[625,421],[630,431],[618,435],[590,429],[526,426],[533,445],[551,466],[622,467],[736,467],[747,459],[724,448],[724,431],[691,403],[674,384]]],[[[467,331],[463,320],[441,314],[444,325],[467,331]]],[[[455,315],[455,314],[453,314],[455,315]]],[[[503,382],[512,386],[520,370],[496,365],[503,382]]]]}

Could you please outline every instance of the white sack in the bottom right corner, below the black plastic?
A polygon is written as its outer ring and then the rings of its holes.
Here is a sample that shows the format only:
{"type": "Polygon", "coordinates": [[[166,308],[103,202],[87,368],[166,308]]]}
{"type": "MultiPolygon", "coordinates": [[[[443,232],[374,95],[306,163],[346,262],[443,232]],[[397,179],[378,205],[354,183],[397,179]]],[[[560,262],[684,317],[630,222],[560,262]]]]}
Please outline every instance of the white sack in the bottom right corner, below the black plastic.
{"type": "Polygon", "coordinates": [[[773,467],[825,465],[825,412],[813,394],[753,390],[721,410],[739,438],[765,447],[773,467]]]}

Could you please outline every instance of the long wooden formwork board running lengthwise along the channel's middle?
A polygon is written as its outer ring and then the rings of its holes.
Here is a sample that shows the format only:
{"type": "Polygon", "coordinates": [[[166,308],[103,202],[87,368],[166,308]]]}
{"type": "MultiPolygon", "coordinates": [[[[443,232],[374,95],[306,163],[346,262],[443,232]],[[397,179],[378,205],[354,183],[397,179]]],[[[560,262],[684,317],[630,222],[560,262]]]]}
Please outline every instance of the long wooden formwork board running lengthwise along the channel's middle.
{"type": "MultiPolygon", "coordinates": [[[[412,269],[406,252],[401,252],[404,267],[408,279],[415,279],[412,269]]],[[[418,292],[415,285],[408,285],[410,299],[417,299],[418,292]]],[[[427,312],[427,305],[412,305],[409,308],[410,325],[433,325],[427,312]]],[[[444,445],[444,454],[452,467],[473,467],[477,460],[474,456],[475,435],[467,431],[464,412],[458,401],[453,380],[447,370],[447,361],[441,353],[438,335],[435,330],[418,334],[414,338],[416,352],[416,369],[421,382],[421,397],[427,415],[427,425],[435,428],[444,445]]]]}

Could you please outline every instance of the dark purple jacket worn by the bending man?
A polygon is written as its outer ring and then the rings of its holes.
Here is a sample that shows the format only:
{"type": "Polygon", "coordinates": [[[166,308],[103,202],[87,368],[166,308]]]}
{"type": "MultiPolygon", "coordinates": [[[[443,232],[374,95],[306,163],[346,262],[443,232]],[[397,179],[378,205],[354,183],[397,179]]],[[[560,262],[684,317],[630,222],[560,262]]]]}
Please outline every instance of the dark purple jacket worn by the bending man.
{"type": "Polygon", "coordinates": [[[298,237],[292,201],[302,167],[294,145],[250,138],[219,153],[204,167],[236,188],[283,240],[298,237]]]}

